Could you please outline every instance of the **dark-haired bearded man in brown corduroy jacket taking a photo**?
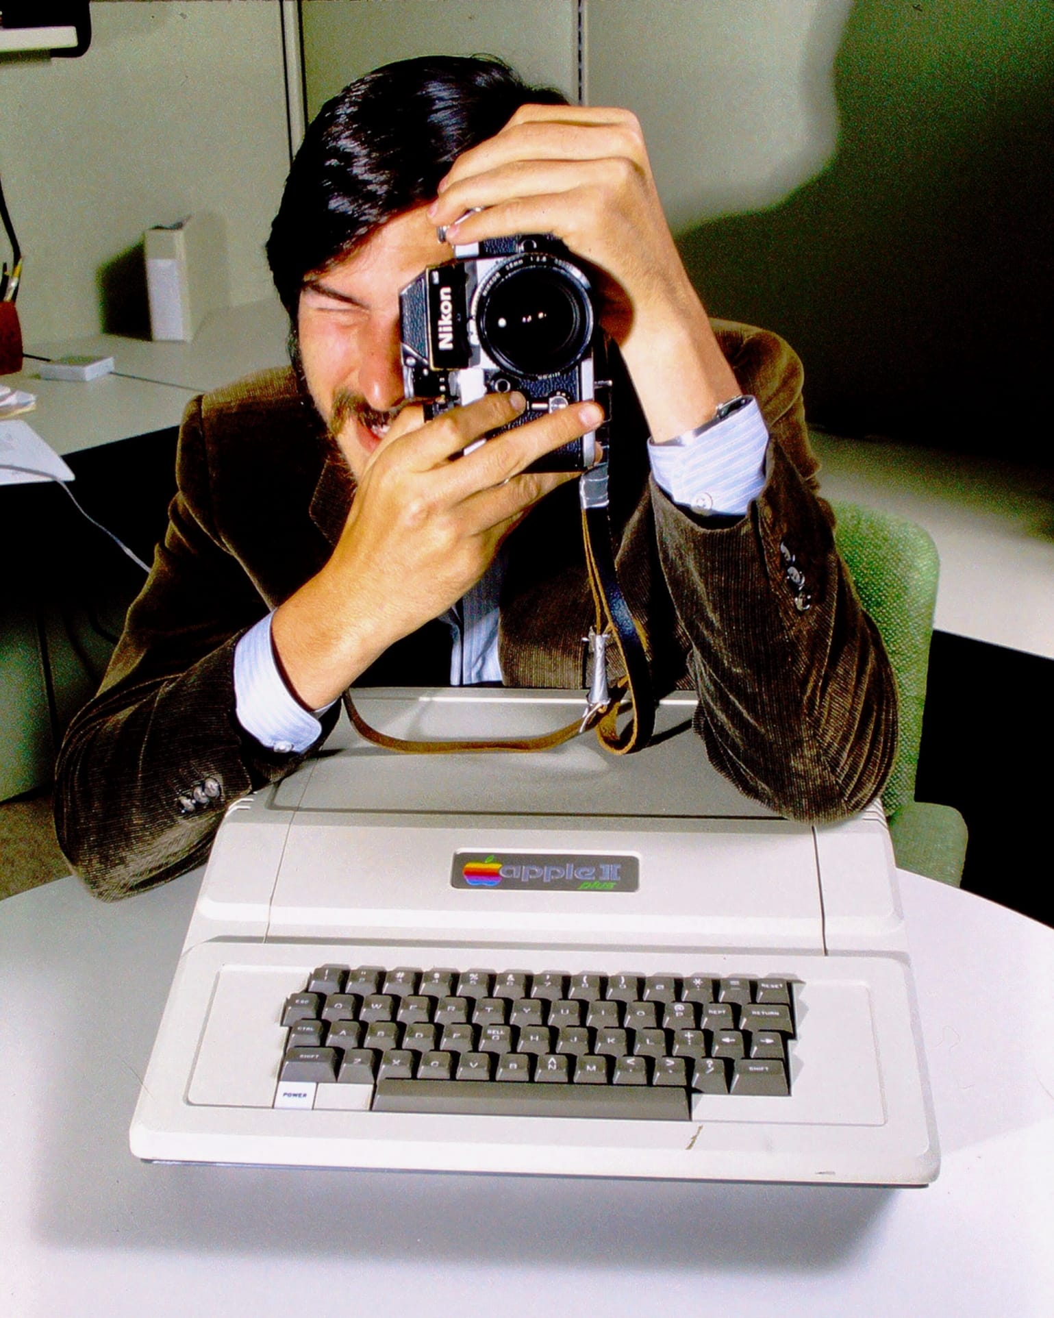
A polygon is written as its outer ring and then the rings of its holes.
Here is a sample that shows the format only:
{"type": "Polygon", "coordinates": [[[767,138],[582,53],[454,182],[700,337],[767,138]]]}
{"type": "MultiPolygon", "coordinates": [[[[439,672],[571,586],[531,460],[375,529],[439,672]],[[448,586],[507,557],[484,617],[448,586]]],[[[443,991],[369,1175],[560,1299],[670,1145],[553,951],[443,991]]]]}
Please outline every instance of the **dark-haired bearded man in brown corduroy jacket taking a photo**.
{"type": "Polygon", "coordinates": [[[657,692],[696,685],[710,759],[784,813],[880,789],[895,688],[814,494],[797,358],[711,327],[631,115],[493,61],[407,61],[308,130],[267,245],[295,369],[188,409],[165,542],[63,745],[59,840],[100,896],[200,863],[223,808],[295,768],[353,683],[582,685],[574,478],[527,468],[599,410],[457,457],[523,399],[424,423],[403,398],[399,290],[449,243],[524,232],[589,268],[628,374],[611,514],[657,692]]]}

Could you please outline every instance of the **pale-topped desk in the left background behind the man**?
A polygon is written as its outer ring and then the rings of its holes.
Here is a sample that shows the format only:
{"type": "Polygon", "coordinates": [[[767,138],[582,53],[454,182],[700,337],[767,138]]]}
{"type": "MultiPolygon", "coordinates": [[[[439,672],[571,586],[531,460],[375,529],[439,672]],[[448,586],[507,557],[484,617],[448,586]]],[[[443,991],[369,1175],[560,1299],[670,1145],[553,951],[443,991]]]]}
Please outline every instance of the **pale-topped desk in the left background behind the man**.
{"type": "MultiPolygon", "coordinates": [[[[194,343],[104,335],[43,344],[112,356],[115,373],[87,382],[41,380],[34,357],[4,384],[37,395],[25,420],[75,474],[84,509],[145,561],[165,532],[179,422],[199,393],[286,357],[277,302],[220,312],[194,343]]],[[[141,572],[51,485],[0,488],[0,801],[50,782],[55,741],[95,691],[141,572]]]]}

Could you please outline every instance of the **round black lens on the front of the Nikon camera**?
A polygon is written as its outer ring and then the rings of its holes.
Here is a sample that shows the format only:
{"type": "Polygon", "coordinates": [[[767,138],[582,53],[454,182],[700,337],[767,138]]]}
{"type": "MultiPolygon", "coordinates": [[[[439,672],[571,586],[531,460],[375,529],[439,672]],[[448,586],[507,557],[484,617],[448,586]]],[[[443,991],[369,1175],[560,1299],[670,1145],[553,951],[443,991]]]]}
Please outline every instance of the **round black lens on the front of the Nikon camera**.
{"type": "Polygon", "coordinates": [[[480,345],[516,376],[556,376],[580,361],[593,337],[593,307],[580,277],[545,256],[510,261],[482,287],[480,345]]]}

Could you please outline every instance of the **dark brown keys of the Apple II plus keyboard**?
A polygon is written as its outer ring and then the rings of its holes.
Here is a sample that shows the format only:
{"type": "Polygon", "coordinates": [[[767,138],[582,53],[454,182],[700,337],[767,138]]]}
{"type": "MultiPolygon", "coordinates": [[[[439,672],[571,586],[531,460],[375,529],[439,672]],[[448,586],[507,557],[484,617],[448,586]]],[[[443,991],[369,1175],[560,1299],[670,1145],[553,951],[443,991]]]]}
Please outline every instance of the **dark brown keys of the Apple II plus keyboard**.
{"type": "Polygon", "coordinates": [[[274,1106],[689,1120],[790,1093],[797,981],[319,966],[279,1008],[274,1106]]]}

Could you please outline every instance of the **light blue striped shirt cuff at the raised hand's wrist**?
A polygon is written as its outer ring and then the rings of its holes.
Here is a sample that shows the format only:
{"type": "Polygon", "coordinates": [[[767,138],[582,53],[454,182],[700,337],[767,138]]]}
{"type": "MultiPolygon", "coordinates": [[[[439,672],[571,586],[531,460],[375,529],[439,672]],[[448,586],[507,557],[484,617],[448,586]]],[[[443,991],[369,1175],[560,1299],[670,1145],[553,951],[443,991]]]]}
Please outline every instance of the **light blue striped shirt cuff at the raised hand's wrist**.
{"type": "Polygon", "coordinates": [[[668,444],[648,440],[656,484],[693,513],[742,517],[764,489],[768,428],[751,398],[701,435],[668,444]]]}

